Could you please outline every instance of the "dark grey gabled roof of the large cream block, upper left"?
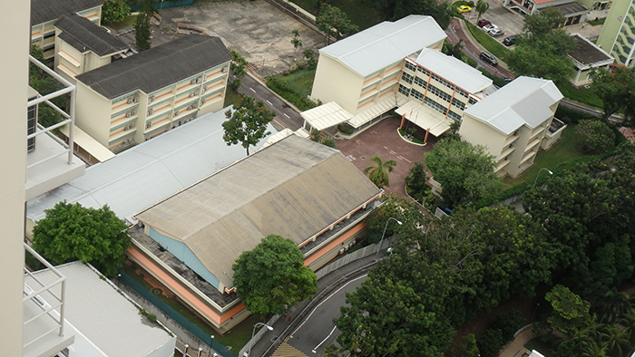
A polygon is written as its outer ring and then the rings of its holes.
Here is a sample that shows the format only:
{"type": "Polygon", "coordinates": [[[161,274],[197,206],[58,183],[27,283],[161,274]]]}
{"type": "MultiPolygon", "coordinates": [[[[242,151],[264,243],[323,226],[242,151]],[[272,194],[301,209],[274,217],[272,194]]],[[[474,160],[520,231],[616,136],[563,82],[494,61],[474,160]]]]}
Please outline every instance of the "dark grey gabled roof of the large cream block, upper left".
{"type": "Polygon", "coordinates": [[[108,99],[157,91],[231,60],[219,37],[190,34],[75,77],[108,99]]]}

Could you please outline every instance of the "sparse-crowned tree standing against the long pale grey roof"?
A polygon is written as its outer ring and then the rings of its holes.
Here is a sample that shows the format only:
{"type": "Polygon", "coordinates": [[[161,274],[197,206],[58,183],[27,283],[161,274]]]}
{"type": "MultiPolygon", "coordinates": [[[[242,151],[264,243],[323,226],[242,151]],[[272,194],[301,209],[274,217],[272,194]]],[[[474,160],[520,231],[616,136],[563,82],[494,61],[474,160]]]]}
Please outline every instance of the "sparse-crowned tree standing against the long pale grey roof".
{"type": "Polygon", "coordinates": [[[275,111],[270,111],[263,101],[255,101],[251,96],[244,96],[238,105],[234,105],[233,111],[225,111],[228,119],[222,123],[225,134],[222,139],[228,146],[240,144],[247,150],[249,146],[258,144],[270,134],[267,124],[276,117],[275,111]]]}

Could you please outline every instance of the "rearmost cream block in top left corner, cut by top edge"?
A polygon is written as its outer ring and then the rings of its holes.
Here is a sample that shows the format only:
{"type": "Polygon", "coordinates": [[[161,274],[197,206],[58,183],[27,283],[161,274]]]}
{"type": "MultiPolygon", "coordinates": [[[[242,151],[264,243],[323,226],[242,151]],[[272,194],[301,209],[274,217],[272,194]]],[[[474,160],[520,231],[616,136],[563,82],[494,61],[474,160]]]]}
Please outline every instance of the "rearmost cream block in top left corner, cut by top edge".
{"type": "Polygon", "coordinates": [[[100,25],[102,5],[102,0],[31,0],[31,44],[44,50],[44,60],[52,60],[57,19],[63,14],[79,14],[100,25]]]}

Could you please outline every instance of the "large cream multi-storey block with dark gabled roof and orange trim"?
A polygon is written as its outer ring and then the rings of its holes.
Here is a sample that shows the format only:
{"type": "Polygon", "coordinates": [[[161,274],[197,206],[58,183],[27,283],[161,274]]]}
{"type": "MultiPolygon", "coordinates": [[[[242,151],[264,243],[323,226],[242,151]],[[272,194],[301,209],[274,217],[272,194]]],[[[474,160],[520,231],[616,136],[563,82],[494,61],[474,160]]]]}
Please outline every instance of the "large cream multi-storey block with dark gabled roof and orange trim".
{"type": "Polygon", "coordinates": [[[223,108],[231,55],[192,34],[75,77],[77,126],[117,152],[223,108]]]}

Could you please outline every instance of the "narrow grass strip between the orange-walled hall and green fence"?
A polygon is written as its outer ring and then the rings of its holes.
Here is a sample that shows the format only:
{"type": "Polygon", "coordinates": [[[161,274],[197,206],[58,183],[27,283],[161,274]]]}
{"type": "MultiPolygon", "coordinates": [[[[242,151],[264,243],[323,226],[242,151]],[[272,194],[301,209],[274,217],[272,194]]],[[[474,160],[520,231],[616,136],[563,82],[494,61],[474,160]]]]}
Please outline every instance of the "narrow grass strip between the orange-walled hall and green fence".
{"type": "MultiPolygon", "coordinates": [[[[135,272],[135,268],[133,268],[131,265],[123,265],[122,271],[125,274],[131,276],[132,279],[134,279],[137,283],[143,285],[143,287],[145,287],[146,289],[148,290],[152,289],[151,285],[148,284],[148,282],[146,282],[145,280],[143,280],[143,276],[138,275],[135,272]]],[[[231,346],[231,351],[236,353],[238,353],[240,349],[249,342],[249,339],[251,338],[253,325],[256,323],[266,322],[266,320],[259,315],[251,315],[247,320],[240,323],[237,327],[231,330],[230,333],[227,333],[224,336],[220,336],[220,334],[215,332],[214,329],[210,327],[210,325],[203,322],[199,316],[192,313],[190,309],[183,306],[183,304],[179,303],[176,299],[167,297],[162,294],[159,295],[159,298],[161,299],[162,302],[164,302],[165,304],[169,304],[171,308],[178,311],[179,314],[183,315],[191,323],[194,323],[197,326],[199,326],[200,329],[203,330],[205,333],[209,335],[212,335],[212,334],[215,335],[216,336],[215,340],[218,343],[221,343],[223,346],[231,346]]]]}

